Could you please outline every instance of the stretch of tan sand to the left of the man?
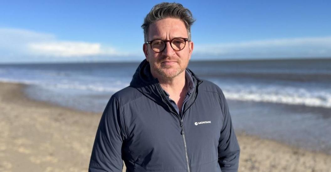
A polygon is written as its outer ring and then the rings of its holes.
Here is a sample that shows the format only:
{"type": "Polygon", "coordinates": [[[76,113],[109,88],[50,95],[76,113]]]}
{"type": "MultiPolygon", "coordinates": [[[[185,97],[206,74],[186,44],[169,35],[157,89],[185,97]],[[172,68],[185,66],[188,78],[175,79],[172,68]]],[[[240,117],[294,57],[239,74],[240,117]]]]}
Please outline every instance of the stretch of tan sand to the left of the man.
{"type": "Polygon", "coordinates": [[[25,86],[0,82],[0,171],[87,171],[101,114],[30,100],[25,86]]]}

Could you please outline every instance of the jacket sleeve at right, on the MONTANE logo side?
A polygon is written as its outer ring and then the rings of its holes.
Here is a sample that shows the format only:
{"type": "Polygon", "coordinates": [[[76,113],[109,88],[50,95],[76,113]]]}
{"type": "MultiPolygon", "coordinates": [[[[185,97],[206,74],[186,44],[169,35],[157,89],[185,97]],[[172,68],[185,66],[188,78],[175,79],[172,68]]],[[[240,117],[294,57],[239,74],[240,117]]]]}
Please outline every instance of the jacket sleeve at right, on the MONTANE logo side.
{"type": "Polygon", "coordinates": [[[223,126],[218,142],[218,163],[222,172],[236,172],[239,166],[240,148],[234,133],[229,107],[223,92],[220,93],[223,126]]]}

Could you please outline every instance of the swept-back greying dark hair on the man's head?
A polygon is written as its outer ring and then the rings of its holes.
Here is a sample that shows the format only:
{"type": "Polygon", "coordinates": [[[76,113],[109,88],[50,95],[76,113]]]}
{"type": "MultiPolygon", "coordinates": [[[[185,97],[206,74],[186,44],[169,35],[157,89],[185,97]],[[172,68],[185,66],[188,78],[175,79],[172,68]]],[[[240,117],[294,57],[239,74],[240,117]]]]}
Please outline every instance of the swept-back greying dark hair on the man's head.
{"type": "Polygon", "coordinates": [[[195,21],[195,19],[193,19],[191,11],[183,7],[183,5],[179,3],[163,2],[155,5],[151,9],[151,11],[146,15],[144,19],[144,24],[141,25],[141,28],[144,29],[145,42],[147,42],[148,39],[149,26],[161,19],[165,19],[168,17],[180,19],[184,22],[188,34],[188,40],[191,41],[191,26],[195,21]]]}

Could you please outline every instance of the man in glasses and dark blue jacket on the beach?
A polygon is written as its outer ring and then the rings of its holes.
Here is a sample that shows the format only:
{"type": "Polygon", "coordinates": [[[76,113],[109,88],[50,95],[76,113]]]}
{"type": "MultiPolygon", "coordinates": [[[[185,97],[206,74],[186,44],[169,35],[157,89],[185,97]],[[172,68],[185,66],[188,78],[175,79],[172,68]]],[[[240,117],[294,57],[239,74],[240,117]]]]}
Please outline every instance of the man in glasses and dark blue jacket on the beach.
{"type": "Polygon", "coordinates": [[[146,16],[141,62],[102,115],[89,171],[237,171],[239,145],[221,89],[186,69],[192,13],[161,3],[146,16]],[[123,161],[122,161],[123,160],[123,161]]]}

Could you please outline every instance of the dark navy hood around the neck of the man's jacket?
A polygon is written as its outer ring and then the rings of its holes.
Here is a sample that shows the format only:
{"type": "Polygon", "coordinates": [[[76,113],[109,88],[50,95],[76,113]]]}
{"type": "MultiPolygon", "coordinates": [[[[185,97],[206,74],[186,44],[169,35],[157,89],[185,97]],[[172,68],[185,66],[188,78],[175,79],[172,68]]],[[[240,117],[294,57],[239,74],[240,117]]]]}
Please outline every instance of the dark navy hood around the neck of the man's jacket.
{"type": "MultiPolygon", "coordinates": [[[[187,103],[185,103],[185,106],[189,106],[194,102],[197,95],[196,93],[198,91],[198,86],[202,83],[202,80],[198,79],[191,70],[186,70],[192,76],[195,85],[195,90],[190,96],[191,101],[187,101],[187,103]]],[[[167,100],[166,94],[162,89],[159,80],[153,77],[151,73],[151,66],[146,59],[144,59],[138,66],[132,77],[130,86],[138,89],[142,94],[149,97],[156,103],[169,108],[169,100],[167,100]]],[[[184,107],[184,109],[186,108],[184,107]]]]}

